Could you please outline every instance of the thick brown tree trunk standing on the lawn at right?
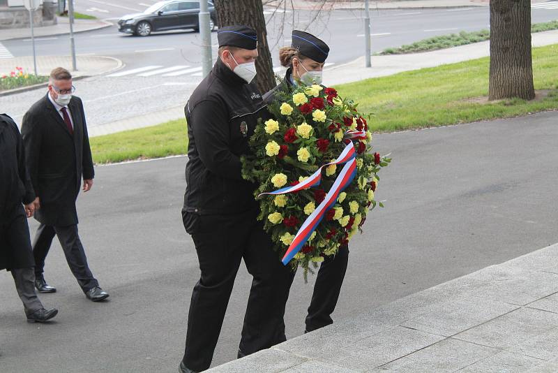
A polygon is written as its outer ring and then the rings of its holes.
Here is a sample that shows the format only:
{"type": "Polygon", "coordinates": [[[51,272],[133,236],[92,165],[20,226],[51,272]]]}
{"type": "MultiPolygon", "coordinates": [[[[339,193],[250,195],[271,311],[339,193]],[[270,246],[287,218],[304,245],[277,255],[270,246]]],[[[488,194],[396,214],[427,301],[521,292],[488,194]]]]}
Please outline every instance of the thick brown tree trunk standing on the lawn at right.
{"type": "Polygon", "coordinates": [[[531,1],[490,0],[488,99],[535,97],[531,60],[531,1]]]}

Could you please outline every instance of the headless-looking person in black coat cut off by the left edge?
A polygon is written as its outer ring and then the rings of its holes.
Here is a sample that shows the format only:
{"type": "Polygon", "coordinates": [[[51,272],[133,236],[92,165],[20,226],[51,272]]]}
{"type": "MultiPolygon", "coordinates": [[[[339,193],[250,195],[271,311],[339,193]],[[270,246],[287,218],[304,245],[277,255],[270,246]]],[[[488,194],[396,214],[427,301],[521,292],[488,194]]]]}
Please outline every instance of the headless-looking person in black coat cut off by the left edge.
{"type": "Polygon", "coordinates": [[[33,253],[25,217],[33,216],[35,192],[25,166],[20,130],[6,114],[0,114],[0,180],[0,270],[12,272],[27,320],[44,323],[58,310],[45,309],[35,293],[33,253]]]}

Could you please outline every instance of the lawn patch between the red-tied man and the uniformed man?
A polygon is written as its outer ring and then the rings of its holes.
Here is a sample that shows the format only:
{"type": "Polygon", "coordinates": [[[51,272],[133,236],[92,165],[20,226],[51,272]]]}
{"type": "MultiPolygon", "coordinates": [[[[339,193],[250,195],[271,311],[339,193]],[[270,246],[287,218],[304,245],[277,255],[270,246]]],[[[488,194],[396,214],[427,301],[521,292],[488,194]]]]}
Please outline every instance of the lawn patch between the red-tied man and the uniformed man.
{"type": "Polygon", "coordinates": [[[186,147],[188,147],[186,119],[173,120],[144,129],[96,136],[89,141],[95,163],[186,154],[186,147]]]}

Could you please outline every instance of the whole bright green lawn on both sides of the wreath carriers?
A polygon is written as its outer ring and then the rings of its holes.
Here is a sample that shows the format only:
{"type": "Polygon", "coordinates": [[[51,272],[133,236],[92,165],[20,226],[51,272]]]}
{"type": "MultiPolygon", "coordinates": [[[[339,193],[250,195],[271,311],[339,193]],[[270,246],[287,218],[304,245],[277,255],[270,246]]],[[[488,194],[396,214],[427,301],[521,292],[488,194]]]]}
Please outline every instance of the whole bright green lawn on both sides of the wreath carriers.
{"type": "MultiPolygon", "coordinates": [[[[478,103],[488,96],[488,57],[459,64],[423,68],[383,78],[339,85],[340,95],[359,102],[359,111],[373,113],[373,131],[419,129],[558,110],[558,44],[533,49],[536,89],[551,92],[538,101],[520,99],[478,103]]],[[[96,163],[185,154],[184,119],[91,138],[96,163]]]]}

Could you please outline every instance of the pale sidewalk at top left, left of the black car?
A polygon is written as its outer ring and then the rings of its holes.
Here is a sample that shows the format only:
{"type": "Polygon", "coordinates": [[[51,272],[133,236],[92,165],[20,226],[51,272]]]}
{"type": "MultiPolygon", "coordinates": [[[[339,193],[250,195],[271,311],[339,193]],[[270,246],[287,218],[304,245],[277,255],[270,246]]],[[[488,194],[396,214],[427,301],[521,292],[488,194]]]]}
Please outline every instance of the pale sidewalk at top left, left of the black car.
{"type": "MultiPolygon", "coordinates": [[[[36,38],[44,38],[45,36],[70,34],[70,20],[68,20],[68,17],[57,17],[57,19],[58,24],[35,27],[33,29],[34,36],[36,38]]],[[[74,33],[103,29],[110,26],[114,26],[114,24],[103,20],[75,20],[74,33]]],[[[2,29],[0,33],[0,41],[20,38],[31,38],[31,28],[2,29]]]]}

